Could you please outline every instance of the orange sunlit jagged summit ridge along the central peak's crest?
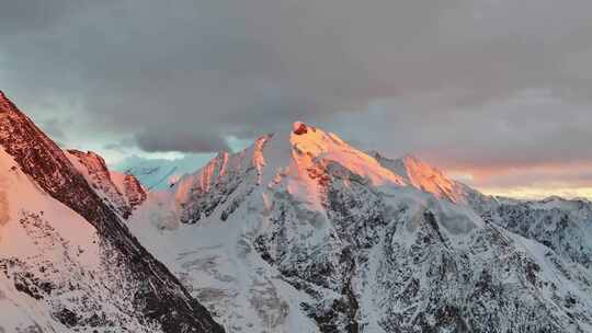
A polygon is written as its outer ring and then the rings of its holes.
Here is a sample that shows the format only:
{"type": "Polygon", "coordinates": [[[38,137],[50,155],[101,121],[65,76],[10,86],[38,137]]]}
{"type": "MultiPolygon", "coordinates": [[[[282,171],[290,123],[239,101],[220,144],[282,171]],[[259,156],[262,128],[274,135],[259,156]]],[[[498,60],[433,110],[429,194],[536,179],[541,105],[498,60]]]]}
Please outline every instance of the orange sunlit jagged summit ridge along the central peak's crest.
{"type": "Polygon", "coordinates": [[[319,182],[327,168],[335,166],[385,191],[411,186],[454,203],[466,202],[462,184],[417,158],[390,160],[375,152],[366,153],[335,134],[303,122],[295,122],[288,133],[262,136],[241,152],[218,153],[196,173],[183,176],[173,188],[183,203],[193,184],[200,184],[200,192],[206,193],[215,184],[224,183],[229,172],[236,177],[253,168],[255,183],[272,187],[284,184],[291,195],[321,209],[319,182]]]}

